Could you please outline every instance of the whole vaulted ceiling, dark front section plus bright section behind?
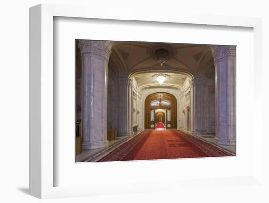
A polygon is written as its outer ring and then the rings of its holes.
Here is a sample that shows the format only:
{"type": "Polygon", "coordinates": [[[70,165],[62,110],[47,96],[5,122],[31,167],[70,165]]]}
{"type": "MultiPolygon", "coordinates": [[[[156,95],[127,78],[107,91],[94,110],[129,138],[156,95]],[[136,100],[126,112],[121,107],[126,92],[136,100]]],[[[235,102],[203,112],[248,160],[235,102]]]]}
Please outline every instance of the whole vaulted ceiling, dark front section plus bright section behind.
{"type": "Polygon", "coordinates": [[[113,42],[108,77],[131,77],[141,88],[182,88],[187,78],[214,78],[214,61],[210,46],[149,42],[113,42]],[[171,55],[161,66],[154,50],[166,48],[171,55]],[[160,85],[154,74],[170,75],[160,85]]]}

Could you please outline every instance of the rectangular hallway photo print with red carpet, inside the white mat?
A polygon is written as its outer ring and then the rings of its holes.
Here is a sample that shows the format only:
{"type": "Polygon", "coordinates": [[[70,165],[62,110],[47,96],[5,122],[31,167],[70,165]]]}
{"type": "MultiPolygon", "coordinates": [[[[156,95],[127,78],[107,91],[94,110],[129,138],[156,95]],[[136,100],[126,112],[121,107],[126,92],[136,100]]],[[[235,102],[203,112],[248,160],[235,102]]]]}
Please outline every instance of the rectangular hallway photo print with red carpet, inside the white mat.
{"type": "Polygon", "coordinates": [[[76,40],[75,162],[235,156],[235,66],[234,46],[76,40]]]}

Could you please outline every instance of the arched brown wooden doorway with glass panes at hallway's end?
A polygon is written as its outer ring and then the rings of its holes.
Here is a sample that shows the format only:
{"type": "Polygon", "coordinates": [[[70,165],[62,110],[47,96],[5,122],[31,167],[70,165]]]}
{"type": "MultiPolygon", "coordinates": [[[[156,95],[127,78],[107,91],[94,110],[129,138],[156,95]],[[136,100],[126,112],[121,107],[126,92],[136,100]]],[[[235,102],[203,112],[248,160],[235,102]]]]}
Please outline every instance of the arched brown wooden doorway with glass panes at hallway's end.
{"type": "Polygon", "coordinates": [[[167,129],[177,128],[177,99],[169,93],[154,93],[145,100],[145,129],[155,129],[160,120],[167,129]]]}

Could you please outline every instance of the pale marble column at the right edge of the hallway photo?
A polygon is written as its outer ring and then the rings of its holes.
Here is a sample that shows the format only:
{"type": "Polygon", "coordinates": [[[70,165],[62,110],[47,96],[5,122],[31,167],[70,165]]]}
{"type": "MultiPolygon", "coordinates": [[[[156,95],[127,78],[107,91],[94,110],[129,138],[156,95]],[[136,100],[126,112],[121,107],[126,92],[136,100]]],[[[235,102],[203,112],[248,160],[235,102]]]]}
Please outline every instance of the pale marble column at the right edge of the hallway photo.
{"type": "Polygon", "coordinates": [[[236,48],[215,46],[216,139],[221,145],[235,145],[236,48]]]}

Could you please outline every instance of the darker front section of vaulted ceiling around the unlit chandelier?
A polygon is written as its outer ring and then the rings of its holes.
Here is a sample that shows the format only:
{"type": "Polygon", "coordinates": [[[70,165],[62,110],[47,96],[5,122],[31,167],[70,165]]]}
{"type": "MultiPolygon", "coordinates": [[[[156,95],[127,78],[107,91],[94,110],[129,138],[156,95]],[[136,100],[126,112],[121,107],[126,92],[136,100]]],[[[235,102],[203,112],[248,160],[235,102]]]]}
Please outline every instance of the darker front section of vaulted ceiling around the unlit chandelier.
{"type": "Polygon", "coordinates": [[[197,78],[214,77],[214,61],[207,45],[167,44],[149,42],[115,42],[109,69],[118,77],[141,71],[179,71],[197,78]],[[167,47],[173,52],[161,66],[152,54],[155,47],[167,47]]]}

